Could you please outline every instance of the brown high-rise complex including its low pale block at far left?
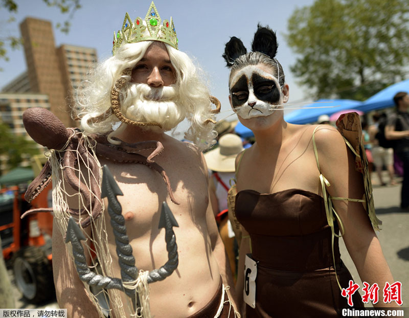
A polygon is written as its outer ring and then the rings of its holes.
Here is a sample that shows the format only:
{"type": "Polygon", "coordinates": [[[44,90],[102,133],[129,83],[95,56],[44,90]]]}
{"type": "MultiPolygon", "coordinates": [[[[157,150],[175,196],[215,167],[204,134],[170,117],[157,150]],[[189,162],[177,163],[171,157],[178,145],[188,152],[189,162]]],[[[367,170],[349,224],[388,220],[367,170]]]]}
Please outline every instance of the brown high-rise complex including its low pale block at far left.
{"type": "Polygon", "coordinates": [[[50,21],[28,17],[21,22],[20,31],[27,71],[3,87],[1,120],[13,133],[26,134],[22,112],[30,107],[46,107],[65,127],[77,126],[72,119],[73,95],[97,61],[96,50],[66,44],[56,48],[50,21]]]}

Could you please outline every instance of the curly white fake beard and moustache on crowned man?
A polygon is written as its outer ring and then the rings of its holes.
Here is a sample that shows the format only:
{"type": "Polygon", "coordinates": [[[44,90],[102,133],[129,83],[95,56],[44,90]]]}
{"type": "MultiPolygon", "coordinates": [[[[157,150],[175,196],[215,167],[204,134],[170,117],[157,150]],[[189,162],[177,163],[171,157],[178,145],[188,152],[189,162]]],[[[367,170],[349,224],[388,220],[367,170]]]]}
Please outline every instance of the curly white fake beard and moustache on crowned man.
{"type": "Polygon", "coordinates": [[[183,106],[176,104],[177,87],[150,87],[147,84],[132,84],[122,102],[126,118],[144,123],[158,123],[167,131],[185,119],[183,106]]]}

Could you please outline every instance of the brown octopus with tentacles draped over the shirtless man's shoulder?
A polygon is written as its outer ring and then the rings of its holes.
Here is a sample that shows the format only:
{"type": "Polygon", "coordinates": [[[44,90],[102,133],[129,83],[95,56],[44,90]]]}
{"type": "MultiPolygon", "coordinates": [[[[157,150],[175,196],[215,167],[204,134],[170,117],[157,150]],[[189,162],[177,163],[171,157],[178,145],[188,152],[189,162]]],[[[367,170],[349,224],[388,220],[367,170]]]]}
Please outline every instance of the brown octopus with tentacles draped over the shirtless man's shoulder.
{"type": "MultiPolygon", "coordinates": [[[[79,192],[83,200],[83,209],[70,209],[72,215],[86,215],[86,210],[90,210],[90,215],[81,221],[81,226],[86,227],[91,219],[101,215],[101,190],[100,190],[100,168],[98,162],[92,155],[92,150],[85,144],[82,133],[79,129],[65,128],[62,122],[53,113],[44,108],[30,108],[23,114],[23,123],[31,138],[37,143],[55,149],[63,166],[63,178],[75,191],[79,192]],[[45,124],[44,124],[45,123],[45,124]],[[77,152],[75,152],[77,150],[77,152]],[[78,156],[77,156],[78,154],[78,156]],[[80,161],[80,162],[78,162],[80,161]],[[85,186],[83,180],[77,175],[76,168],[81,161],[89,166],[92,175],[90,176],[90,190],[85,186]]],[[[92,143],[95,145],[95,152],[98,156],[109,161],[118,163],[143,164],[158,172],[166,185],[169,197],[175,204],[179,204],[173,196],[169,178],[165,170],[153,161],[153,158],[161,154],[164,150],[162,143],[158,141],[146,141],[135,144],[121,142],[119,146],[110,144],[106,136],[93,135],[92,143]],[[140,154],[140,151],[153,149],[148,157],[140,154]]],[[[47,162],[27,189],[25,198],[31,202],[51,180],[51,165],[47,162]]],[[[52,209],[33,209],[24,213],[24,217],[30,213],[50,212],[52,209]]]]}

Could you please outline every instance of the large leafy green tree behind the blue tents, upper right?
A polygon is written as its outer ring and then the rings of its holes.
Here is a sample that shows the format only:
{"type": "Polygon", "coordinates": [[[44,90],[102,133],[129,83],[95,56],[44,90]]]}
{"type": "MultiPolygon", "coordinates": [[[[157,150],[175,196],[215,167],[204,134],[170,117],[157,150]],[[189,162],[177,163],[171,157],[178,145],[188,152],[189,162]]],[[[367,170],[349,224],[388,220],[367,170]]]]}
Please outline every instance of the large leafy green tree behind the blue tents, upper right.
{"type": "Polygon", "coordinates": [[[409,71],[409,1],[316,0],[292,13],[285,37],[312,97],[365,100],[409,71]]]}

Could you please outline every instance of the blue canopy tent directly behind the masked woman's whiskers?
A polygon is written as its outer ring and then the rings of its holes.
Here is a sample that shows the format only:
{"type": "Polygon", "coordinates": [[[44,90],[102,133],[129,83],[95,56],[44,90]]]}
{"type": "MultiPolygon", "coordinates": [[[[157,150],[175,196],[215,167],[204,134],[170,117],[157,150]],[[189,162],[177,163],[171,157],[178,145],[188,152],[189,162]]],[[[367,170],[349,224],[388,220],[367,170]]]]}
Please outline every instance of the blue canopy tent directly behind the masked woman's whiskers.
{"type": "MultiPolygon", "coordinates": [[[[320,99],[319,103],[311,103],[302,106],[303,108],[291,111],[284,116],[284,119],[291,124],[309,124],[318,120],[321,115],[331,116],[333,113],[345,110],[345,109],[358,109],[358,106],[362,102],[349,100],[349,99],[320,99]],[[307,108],[307,107],[322,107],[322,106],[337,106],[332,108],[307,108]]],[[[298,106],[298,105],[294,105],[298,106]]],[[[291,107],[289,105],[288,107],[291,107]]],[[[285,108],[285,106],[284,106],[285,108]]],[[[253,132],[247,127],[243,126],[240,122],[237,124],[235,131],[242,138],[248,138],[253,136],[253,132]]]]}

